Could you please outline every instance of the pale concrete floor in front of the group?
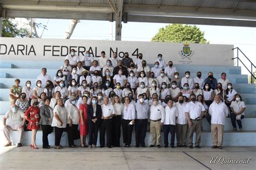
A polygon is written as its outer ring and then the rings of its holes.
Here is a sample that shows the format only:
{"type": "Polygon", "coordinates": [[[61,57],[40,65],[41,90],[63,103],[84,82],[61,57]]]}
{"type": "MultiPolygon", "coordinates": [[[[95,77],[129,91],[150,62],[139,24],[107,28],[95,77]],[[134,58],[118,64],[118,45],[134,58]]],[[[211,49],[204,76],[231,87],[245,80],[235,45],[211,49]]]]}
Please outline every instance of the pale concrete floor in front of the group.
{"type": "Polygon", "coordinates": [[[0,147],[0,169],[255,169],[256,147],[69,148],[0,147]],[[212,157],[249,164],[210,164],[212,157]]]}

